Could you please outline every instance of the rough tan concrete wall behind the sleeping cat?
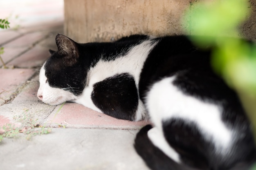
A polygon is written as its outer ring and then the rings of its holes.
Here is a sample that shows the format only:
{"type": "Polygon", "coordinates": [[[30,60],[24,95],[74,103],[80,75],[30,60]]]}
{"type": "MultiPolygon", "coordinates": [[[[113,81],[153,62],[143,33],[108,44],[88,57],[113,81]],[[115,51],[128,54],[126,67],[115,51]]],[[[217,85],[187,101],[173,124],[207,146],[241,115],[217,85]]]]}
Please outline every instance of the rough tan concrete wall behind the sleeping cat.
{"type": "MultiPolygon", "coordinates": [[[[106,42],[135,33],[182,34],[184,10],[203,0],[65,0],[65,35],[77,42],[106,42]]],[[[205,1],[205,0],[204,0],[205,1]]],[[[256,39],[256,4],[241,34],[256,39]]]]}

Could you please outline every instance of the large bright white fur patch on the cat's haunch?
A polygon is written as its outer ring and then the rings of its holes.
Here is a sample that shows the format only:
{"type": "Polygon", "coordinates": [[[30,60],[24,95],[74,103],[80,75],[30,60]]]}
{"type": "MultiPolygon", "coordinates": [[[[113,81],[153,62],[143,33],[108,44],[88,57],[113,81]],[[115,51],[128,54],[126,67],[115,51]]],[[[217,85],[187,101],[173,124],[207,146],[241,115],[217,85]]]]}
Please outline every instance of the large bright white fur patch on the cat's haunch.
{"type": "Polygon", "coordinates": [[[172,84],[174,79],[162,79],[148,93],[146,106],[155,126],[161,129],[162,120],[171,118],[181,118],[187,124],[193,122],[205,139],[215,144],[218,152],[225,153],[231,144],[232,132],[221,120],[220,107],[185,95],[172,84]]]}

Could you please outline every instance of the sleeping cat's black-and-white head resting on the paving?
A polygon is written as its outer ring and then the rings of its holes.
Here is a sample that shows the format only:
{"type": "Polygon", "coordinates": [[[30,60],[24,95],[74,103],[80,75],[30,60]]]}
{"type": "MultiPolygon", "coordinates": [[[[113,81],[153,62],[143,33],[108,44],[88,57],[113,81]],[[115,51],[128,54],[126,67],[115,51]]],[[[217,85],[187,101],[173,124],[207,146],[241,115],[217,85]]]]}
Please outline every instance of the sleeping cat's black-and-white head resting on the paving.
{"type": "Polygon", "coordinates": [[[57,105],[76,99],[83,92],[86,73],[79,56],[79,44],[64,35],[56,36],[58,51],[49,50],[51,57],[39,73],[37,97],[46,104],[57,105]]]}

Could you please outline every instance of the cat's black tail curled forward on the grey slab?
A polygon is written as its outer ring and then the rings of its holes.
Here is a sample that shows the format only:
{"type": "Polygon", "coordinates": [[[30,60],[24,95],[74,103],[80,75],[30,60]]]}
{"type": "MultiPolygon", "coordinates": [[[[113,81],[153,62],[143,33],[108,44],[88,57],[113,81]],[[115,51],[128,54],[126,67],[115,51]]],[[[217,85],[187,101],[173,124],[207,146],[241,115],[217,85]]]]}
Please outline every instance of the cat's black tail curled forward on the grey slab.
{"type": "Polygon", "coordinates": [[[148,138],[148,130],[152,128],[147,125],[142,128],[135,138],[135,150],[152,170],[198,170],[190,168],[173,161],[166,156],[162,150],[157,148],[148,138]]]}

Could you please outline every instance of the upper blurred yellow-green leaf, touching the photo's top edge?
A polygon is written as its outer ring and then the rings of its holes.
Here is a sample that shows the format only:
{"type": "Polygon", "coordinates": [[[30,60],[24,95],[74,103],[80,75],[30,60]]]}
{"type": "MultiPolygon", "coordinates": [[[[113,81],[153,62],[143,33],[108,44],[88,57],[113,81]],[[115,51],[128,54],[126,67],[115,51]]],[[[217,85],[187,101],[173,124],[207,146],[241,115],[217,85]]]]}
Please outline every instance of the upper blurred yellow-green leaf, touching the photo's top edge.
{"type": "Polygon", "coordinates": [[[195,37],[199,45],[216,44],[223,36],[237,37],[237,26],[245,20],[248,11],[245,0],[215,0],[207,3],[193,3],[184,17],[186,32],[195,37]]]}

